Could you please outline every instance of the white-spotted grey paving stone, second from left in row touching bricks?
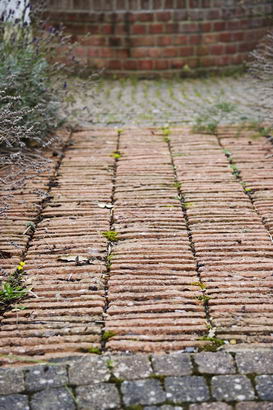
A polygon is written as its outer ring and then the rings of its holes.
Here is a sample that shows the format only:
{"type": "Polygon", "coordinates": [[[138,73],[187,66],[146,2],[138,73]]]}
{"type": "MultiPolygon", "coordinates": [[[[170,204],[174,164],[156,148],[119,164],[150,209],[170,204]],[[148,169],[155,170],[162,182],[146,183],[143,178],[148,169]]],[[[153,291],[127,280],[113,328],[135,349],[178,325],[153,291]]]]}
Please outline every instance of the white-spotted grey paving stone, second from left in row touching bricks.
{"type": "Polygon", "coordinates": [[[25,372],[25,384],[28,391],[60,387],[68,383],[65,366],[35,366],[25,372]]]}

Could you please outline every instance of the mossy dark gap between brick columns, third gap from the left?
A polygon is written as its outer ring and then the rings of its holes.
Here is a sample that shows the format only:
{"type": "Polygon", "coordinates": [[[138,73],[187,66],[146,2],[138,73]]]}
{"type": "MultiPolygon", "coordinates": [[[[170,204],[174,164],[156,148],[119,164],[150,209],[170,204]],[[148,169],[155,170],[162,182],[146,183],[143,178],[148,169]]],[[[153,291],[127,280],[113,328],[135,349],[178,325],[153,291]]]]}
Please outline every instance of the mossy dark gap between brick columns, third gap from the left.
{"type": "Polygon", "coordinates": [[[214,324],[211,314],[210,314],[210,307],[209,307],[209,300],[207,298],[206,295],[206,286],[204,284],[204,282],[202,281],[202,277],[201,277],[201,273],[200,273],[200,268],[202,267],[202,265],[199,263],[197,257],[196,257],[196,249],[195,249],[195,244],[193,241],[193,236],[192,236],[192,231],[191,231],[191,227],[190,227],[190,221],[189,221],[189,217],[188,217],[188,212],[187,212],[187,207],[186,207],[186,199],[183,195],[181,186],[180,186],[180,181],[178,180],[177,177],[177,172],[176,172],[176,167],[175,167],[175,163],[174,163],[174,159],[173,159],[173,152],[172,152],[172,146],[171,146],[171,142],[170,142],[170,138],[165,139],[167,145],[168,145],[168,149],[169,149],[169,154],[170,154],[170,158],[171,158],[171,164],[172,164],[172,168],[173,168],[173,174],[174,174],[174,180],[175,180],[175,185],[176,185],[176,189],[177,189],[177,193],[178,193],[178,198],[180,201],[180,206],[181,206],[181,210],[183,213],[183,217],[186,223],[186,229],[187,229],[187,234],[188,234],[188,239],[189,239],[189,243],[190,243],[190,248],[191,248],[191,252],[193,255],[193,258],[195,260],[195,265],[196,265],[196,275],[198,277],[198,282],[200,283],[201,287],[200,287],[200,291],[202,292],[202,296],[203,296],[203,307],[204,307],[204,311],[205,311],[205,315],[206,315],[206,322],[208,325],[208,329],[216,329],[216,325],[214,324]],[[202,286],[203,285],[203,286],[202,286]]]}

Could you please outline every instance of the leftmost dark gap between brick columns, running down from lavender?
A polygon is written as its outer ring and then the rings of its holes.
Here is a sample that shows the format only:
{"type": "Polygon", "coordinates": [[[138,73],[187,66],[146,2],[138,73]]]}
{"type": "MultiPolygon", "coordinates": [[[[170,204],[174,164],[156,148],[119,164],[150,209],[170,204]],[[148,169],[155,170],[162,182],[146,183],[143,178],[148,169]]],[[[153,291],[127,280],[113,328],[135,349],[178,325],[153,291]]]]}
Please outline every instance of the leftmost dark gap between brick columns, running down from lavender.
{"type": "Polygon", "coordinates": [[[66,154],[66,151],[67,151],[68,147],[72,144],[72,135],[73,135],[73,132],[71,131],[71,132],[69,133],[68,138],[66,139],[66,141],[64,142],[64,144],[63,144],[63,146],[62,146],[62,148],[61,148],[61,151],[60,151],[60,153],[59,153],[59,158],[58,158],[58,160],[57,160],[57,162],[56,162],[56,164],[55,164],[53,173],[52,173],[52,175],[49,177],[49,181],[48,181],[48,183],[47,183],[47,187],[48,187],[48,188],[47,188],[47,190],[46,190],[46,196],[45,196],[45,198],[43,198],[43,199],[40,201],[40,203],[38,204],[38,205],[39,205],[39,211],[38,211],[38,213],[37,213],[35,219],[32,221],[32,222],[33,222],[33,227],[32,227],[31,230],[30,230],[29,238],[28,238],[28,240],[27,240],[25,249],[23,250],[23,252],[22,252],[22,254],[21,254],[21,261],[25,261],[26,256],[27,256],[27,253],[28,253],[28,250],[29,250],[30,245],[31,245],[31,242],[32,242],[32,240],[33,240],[33,238],[34,238],[36,229],[38,228],[39,223],[43,220],[43,216],[42,216],[42,215],[43,215],[43,211],[44,211],[44,209],[47,207],[47,204],[48,204],[48,203],[50,202],[50,200],[52,199],[50,193],[51,193],[51,191],[52,191],[52,188],[55,187],[55,186],[57,186],[58,171],[59,171],[59,169],[60,169],[60,167],[61,167],[61,165],[62,165],[62,162],[63,162],[63,159],[64,159],[64,157],[65,157],[65,154],[66,154]]]}

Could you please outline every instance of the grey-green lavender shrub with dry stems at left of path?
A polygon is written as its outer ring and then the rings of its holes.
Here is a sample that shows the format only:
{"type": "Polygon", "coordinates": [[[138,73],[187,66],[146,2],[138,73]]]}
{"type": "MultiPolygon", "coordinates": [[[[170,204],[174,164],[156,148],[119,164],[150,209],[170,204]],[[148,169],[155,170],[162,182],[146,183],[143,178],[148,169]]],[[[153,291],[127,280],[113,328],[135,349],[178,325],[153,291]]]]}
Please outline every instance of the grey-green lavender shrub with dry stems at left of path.
{"type": "MultiPolygon", "coordinates": [[[[42,150],[56,142],[56,129],[74,111],[74,91],[68,84],[75,81],[70,81],[69,76],[84,69],[73,55],[77,45],[71,43],[62,27],[50,27],[40,18],[42,3],[39,4],[40,8],[32,10],[29,0],[0,0],[2,192],[22,187],[27,170],[45,169],[42,150]],[[16,6],[12,8],[13,3],[16,6]]],[[[93,83],[92,76],[87,82],[85,90],[93,83]]],[[[0,212],[7,202],[2,200],[0,212]]]]}

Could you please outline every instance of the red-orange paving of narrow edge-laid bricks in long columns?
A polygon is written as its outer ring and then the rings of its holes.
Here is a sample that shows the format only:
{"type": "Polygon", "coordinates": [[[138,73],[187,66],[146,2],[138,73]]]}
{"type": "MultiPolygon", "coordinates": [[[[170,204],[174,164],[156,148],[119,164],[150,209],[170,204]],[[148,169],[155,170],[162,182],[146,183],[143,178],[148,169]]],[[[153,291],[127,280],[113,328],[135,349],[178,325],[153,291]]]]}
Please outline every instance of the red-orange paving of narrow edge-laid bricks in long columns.
{"type": "MultiPolygon", "coordinates": [[[[203,345],[208,325],[237,346],[272,346],[273,148],[235,134],[173,129],[168,146],[156,129],[74,133],[26,252],[36,297],[4,314],[0,354],[78,354],[100,347],[104,331],[113,332],[108,350],[180,350],[203,345]],[[102,232],[113,229],[119,241],[109,247],[102,232]],[[67,254],[90,263],[60,260],[67,254]]],[[[5,270],[26,250],[41,201],[33,189],[49,177],[15,192],[1,220],[5,270]]]]}

